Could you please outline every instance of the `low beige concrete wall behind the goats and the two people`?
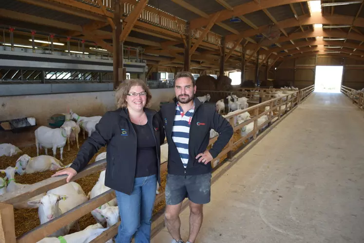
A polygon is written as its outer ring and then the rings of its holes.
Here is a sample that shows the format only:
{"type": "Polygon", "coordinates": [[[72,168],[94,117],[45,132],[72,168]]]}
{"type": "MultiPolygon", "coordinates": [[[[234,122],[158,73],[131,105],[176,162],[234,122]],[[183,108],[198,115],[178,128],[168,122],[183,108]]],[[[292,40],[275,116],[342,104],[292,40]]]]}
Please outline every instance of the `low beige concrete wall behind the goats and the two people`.
{"type": "MultiPolygon", "coordinates": [[[[159,109],[159,102],[172,101],[173,89],[152,89],[152,107],[159,109]]],[[[38,125],[47,125],[47,120],[57,113],[72,109],[80,116],[103,115],[115,109],[114,91],[0,97],[0,121],[35,117],[38,125]]]]}

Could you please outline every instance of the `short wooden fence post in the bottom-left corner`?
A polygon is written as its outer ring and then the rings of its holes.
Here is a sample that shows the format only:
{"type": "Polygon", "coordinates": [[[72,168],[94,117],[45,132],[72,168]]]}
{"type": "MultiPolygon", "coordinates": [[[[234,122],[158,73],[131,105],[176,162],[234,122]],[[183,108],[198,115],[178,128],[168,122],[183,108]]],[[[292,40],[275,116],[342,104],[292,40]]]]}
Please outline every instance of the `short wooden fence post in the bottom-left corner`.
{"type": "Polygon", "coordinates": [[[14,208],[12,204],[0,203],[0,242],[16,243],[14,208]]]}

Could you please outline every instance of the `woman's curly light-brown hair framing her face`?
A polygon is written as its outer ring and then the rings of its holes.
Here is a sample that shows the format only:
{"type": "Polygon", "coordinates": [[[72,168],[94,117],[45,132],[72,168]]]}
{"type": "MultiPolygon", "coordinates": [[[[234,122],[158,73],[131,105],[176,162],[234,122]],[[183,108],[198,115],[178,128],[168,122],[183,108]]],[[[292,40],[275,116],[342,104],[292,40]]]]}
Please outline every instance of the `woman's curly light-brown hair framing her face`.
{"type": "Polygon", "coordinates": [[[128,103],[126,102],[126,97],[128,96],[130,89],[133,86],[141,86],[144,91],[147,92],[147,101],[145,103],[145,107],[149,107],[151,105],[152,93],[148,85],[142,80],[131,79],[123,81],[117,88],[115,94],[117,108],[126,108],[128,106],[128,103]]]}

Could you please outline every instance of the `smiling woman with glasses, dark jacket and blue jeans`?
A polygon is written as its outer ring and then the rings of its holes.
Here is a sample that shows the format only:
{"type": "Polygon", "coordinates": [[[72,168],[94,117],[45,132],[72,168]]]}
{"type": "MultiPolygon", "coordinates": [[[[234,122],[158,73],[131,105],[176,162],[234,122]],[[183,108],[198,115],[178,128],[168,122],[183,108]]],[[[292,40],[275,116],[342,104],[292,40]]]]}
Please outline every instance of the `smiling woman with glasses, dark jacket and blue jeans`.
{"type": "Polygon", "coordinates": [[[118,109],[105,113],[72,165],[53,176],[67,174],[70,182],[107,145],[105,185],[115,190],[121,219],[116,243],[130,243],[134,233],[135,242],[150,243],[163,123],[156,111],[145,108],[152,95],[144,81],[124,81],[115,96],[118,109]]]}

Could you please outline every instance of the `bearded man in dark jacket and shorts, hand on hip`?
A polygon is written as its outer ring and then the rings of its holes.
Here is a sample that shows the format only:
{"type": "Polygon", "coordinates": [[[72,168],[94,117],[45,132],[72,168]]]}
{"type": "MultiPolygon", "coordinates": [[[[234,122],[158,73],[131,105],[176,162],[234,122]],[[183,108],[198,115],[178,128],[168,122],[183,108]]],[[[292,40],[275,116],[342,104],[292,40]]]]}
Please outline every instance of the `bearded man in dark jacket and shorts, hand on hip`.
{"type": "Polygon", "coordinates": [[[190,72],[177,73],[174,91],[174,102],[163,105],[159,111],[168,141],[165,224],[172,243],[184,243],[178,215],[182,201],[188,197],[190,236],[187,243],[193,243],[202,224],[203,204],[210,202],[211,160],[230,141],[233,129],[213,105],[194,98],[196,82],[190,72]],[[220,135],[208,151],[211,129],[220,135]]]}

